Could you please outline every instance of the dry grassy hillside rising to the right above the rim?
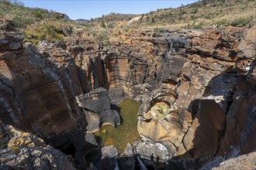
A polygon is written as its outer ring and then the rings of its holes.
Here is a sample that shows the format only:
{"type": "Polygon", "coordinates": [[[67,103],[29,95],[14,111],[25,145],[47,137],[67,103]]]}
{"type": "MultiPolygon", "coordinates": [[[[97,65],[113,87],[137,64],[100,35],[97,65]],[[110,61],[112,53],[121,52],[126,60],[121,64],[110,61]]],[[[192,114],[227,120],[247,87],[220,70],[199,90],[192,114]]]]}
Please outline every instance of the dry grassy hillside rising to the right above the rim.
{"type": "Polygon", "coordinates": [[[254,0],[202,0],[179,8],[162,8],[142,15],[111,14],[99,19],[91,19],[88,25],[102,23],[108,28],[154,29],[154,28],[194,28],[209,26],[245,26],[256,19],[254,0]],[[119,17],[122,16],[122,17],[119,17]],[[126,26],[131,16],[140,16],[139,21],[126,26]]]}

